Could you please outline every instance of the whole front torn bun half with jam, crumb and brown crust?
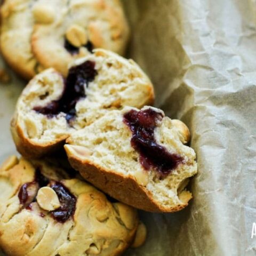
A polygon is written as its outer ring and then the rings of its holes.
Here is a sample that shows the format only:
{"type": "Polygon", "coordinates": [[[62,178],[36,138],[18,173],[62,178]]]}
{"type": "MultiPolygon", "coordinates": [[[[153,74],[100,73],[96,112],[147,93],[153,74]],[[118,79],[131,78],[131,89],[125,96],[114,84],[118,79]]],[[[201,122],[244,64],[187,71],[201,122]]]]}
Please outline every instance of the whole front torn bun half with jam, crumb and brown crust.
{"type": "Polygon", "coordinates": [[[197,173],[190,134],[162,110],[113,110],[67,139],[69,162],[95,187],[138,209],[175,212],[192,198],[197,173]]]}

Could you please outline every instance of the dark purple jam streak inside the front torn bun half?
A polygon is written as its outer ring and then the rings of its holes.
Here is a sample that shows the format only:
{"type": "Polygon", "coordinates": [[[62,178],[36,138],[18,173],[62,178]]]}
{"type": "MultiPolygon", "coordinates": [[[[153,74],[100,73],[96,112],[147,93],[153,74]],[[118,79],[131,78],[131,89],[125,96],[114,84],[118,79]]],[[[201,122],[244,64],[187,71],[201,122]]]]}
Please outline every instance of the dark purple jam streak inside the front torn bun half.
{"type": "Polygon", "coordinates": [[[156,142],[154,130],[163,115],[152,108],[146,110],[131,110],[124,115],[124,123],[132,131],[131,146],[140,154],[140,163],[144,169],[153,168],[161,174],[169,174],[183,158],[171,154],[156,142]]]}

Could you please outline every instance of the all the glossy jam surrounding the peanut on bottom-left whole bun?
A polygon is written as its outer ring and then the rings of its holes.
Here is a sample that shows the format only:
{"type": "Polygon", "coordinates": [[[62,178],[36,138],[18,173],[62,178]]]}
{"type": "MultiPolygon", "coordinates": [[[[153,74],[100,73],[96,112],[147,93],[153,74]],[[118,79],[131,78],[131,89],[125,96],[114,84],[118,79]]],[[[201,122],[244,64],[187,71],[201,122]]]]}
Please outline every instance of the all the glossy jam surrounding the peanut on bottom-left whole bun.
{"type": "Polygon", "coordinates": [[[45,187],[49,183],[51,184],[51,188],[56,192],[60,201],[60,207],[57,210],[50,212],[51,217],[58,222],[63,223],[74,215],[76,210],[76,197],[71,194],[69,189],[62,183],[47,179],[39,169],[36,170],[34,181],[25,183],[21,186],[18,193],[20,204],[22,204],[27,210],[31,211],[31,203],[36,202],[37,191],[39,188],[45,187]],[[34,186],[33,193],[31,193],[30,190],[29,194],[29,188],[31,189],[32,186],[34,186]]]}

